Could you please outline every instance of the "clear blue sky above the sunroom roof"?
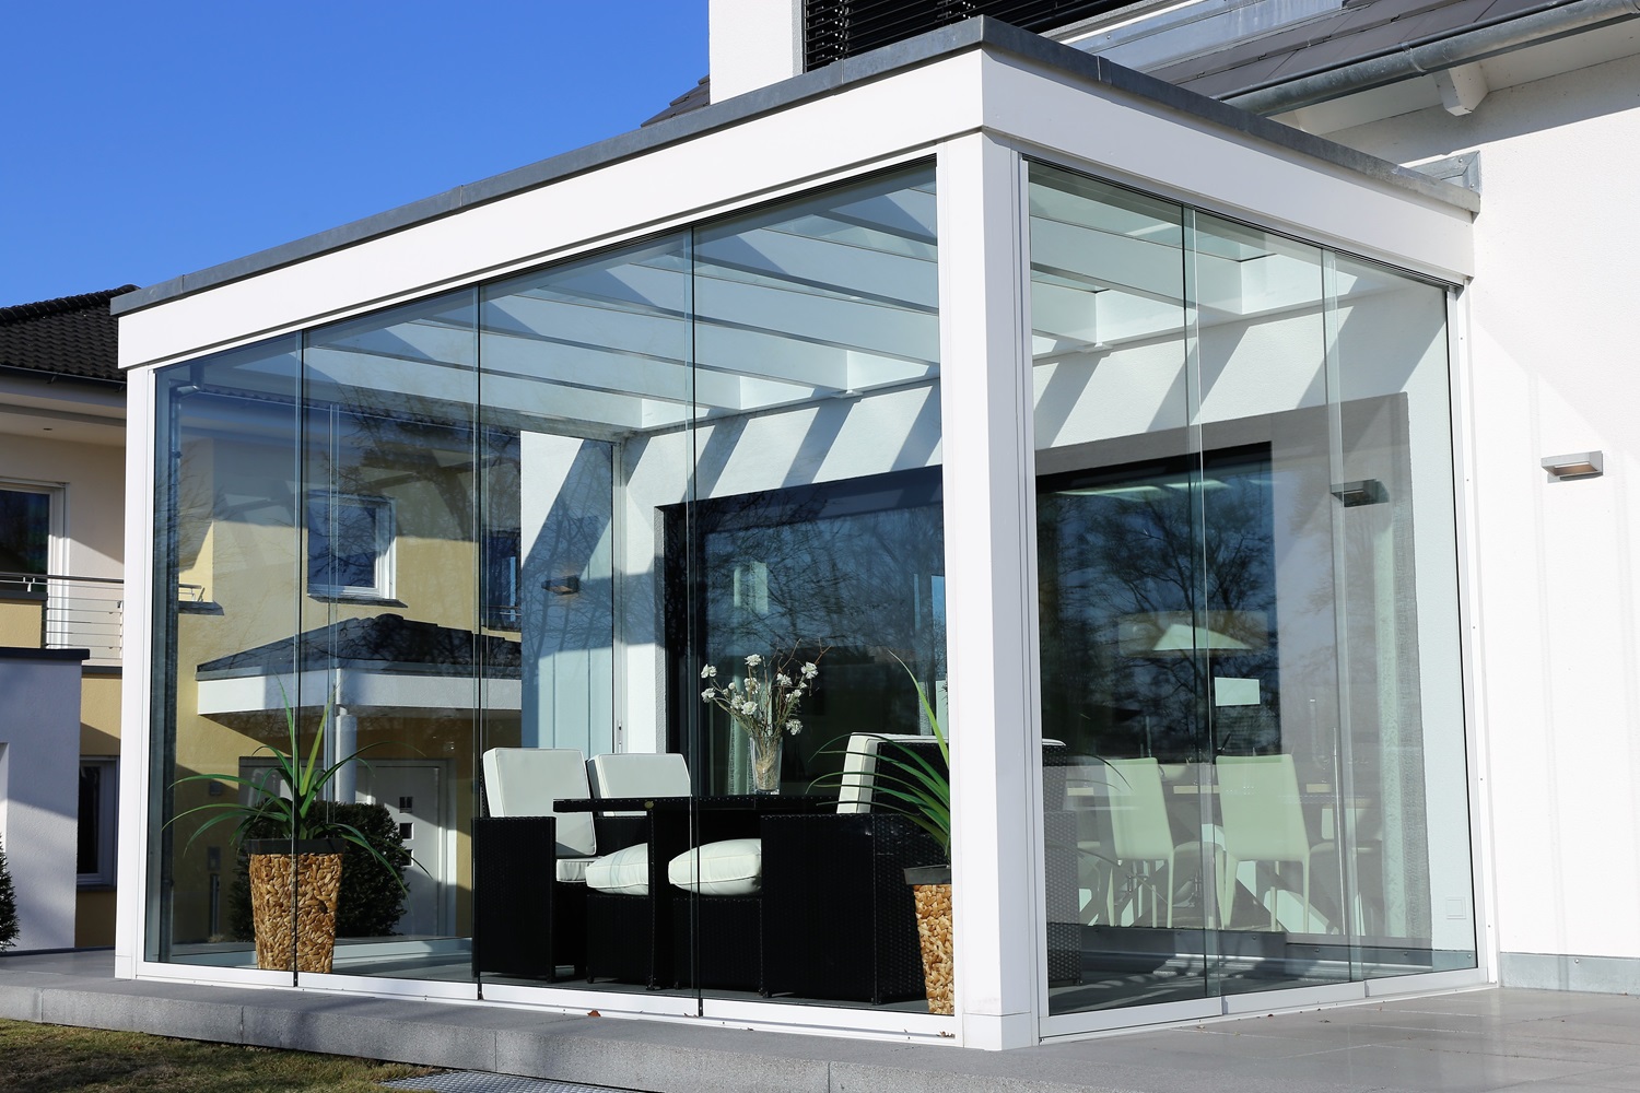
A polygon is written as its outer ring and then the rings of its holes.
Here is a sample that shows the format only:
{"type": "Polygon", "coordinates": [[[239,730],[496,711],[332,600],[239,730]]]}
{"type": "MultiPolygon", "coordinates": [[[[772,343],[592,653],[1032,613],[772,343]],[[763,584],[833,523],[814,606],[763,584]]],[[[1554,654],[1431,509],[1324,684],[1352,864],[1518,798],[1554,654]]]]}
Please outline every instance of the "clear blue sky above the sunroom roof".
{"type": "Polygon", "coordinates": [[[15,3],[0,306],[148,285],[638,126],[707,0],[15,3]]]}

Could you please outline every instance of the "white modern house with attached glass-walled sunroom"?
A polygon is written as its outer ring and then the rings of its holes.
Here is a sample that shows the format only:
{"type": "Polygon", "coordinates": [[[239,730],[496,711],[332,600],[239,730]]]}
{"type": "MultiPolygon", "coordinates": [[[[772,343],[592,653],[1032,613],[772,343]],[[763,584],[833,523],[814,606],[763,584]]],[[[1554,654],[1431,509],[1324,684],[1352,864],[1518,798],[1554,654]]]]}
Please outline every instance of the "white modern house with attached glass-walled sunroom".
{"type": "Polygon", "coordinates": [[[1627,990],[1640,10],[859,7],[717,0],[645,129],[115,303],[118,972],[271,982],[161,824],[290,701],[431,836],[317,990],[982,1049],[1627,990]],[[569,810],[474,865],[497,747],[682,755],[715,839],[702,673],[784,654],[790,795],[935,696],[954,1016],[887,819],[763,819],[738,905],[569,810]]]}

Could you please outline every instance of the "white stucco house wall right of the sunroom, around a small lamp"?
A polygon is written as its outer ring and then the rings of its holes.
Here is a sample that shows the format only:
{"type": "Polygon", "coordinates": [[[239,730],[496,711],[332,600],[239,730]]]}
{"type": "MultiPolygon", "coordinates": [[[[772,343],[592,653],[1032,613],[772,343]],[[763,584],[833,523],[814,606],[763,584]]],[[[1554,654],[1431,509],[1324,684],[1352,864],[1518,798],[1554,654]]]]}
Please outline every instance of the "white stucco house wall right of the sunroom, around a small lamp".
{"type": "Polygon", "coordinates": [[[1494,92],[1465,118],[1427,110],[1328,134],[1401,162],[1481,151],[1461,367],[1502,954],[1640,957],[1635,87],[1629,57],[1494,92]],[[1540,469],[1588,449],[1604,451],[1604,477],[1540,469]]]}

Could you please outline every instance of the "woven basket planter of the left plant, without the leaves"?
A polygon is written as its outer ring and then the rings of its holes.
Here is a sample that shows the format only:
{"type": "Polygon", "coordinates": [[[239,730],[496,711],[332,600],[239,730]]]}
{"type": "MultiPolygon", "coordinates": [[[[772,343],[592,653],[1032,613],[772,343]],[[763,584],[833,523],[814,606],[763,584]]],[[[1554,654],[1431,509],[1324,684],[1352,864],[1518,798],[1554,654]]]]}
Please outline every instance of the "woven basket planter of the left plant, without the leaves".
{"type": "Polygon", "coordinates": [[[336,949],[341,839],[251,839],[256,967],[330,972],[336,949]]]}

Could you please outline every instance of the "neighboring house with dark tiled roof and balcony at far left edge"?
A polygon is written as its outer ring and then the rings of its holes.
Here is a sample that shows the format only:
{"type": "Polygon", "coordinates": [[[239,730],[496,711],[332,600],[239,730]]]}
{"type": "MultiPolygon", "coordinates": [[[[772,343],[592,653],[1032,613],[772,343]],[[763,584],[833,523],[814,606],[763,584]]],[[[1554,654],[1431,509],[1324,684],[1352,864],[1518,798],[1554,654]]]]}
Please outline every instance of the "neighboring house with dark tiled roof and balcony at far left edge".
{"type": "Polygon", "coordinates": [[[0,834],[20,949],[112,946],[125,375],[108,302],[0,308],[0,834]]]}

